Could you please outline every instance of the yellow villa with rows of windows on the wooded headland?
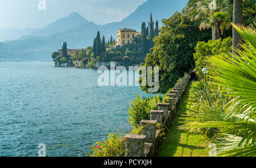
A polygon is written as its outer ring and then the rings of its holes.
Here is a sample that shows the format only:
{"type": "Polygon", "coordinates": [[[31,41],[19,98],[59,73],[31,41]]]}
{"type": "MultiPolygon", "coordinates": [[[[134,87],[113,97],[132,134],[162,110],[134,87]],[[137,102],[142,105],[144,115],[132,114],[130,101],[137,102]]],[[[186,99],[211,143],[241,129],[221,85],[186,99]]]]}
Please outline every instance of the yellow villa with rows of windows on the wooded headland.
{"type": "Polygon", "coordinates": [[[119,29],[117,31],[117,46],[132,44],[134,37],[136,37],[136,30],[134,29],[119,29]]]}

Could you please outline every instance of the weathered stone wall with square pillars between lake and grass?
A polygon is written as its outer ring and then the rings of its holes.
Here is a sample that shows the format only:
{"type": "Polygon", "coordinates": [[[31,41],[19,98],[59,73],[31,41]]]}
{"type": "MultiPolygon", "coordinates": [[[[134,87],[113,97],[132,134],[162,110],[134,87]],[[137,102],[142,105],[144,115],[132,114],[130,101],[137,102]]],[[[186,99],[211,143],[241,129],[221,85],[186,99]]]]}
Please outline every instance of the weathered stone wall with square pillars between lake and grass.
{"type": "Polygon", "coordinates": [[[125,136],[127,144],[127,157],[152,157],[159,151],[160,143],[163,139],[161,127],[170,128],[172,120],[176,117],[176,109],[179,106],[182,96],[187,89],[191,74],[185,75],[170,94],[167,94],[166,104],[158,104],[159,110],[150,111],[150,120],[142,120],[141,126],[144,135],[127,134],[125,136]],[[160,123],[160,128],[156,127],[160,123]]]}

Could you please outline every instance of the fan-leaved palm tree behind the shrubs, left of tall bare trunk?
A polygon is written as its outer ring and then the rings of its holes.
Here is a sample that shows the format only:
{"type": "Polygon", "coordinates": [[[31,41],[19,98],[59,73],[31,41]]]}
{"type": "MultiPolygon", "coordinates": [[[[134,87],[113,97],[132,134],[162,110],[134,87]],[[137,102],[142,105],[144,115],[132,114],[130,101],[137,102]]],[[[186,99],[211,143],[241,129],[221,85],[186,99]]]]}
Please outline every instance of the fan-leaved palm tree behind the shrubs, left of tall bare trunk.
{"type": "Polygon", "coordinates": [[[221,37],[222,29],[230,25],[229,0],[199,0],[189,3],[193,11],[192,20],[201,19],[200,29],[212,28],[212,39],[221,37]]]}

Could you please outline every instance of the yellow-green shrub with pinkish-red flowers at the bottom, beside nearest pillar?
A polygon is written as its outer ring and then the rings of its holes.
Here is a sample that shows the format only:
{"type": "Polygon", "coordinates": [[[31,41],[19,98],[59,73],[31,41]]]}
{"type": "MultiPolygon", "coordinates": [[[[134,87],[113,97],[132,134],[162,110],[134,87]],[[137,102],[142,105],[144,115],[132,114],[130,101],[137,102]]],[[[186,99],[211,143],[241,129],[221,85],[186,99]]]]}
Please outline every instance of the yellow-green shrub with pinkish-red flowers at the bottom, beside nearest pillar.
{"type": "Polygon", "coordinates": [[[125,137],[117,133],[110,134],[108,139],[92,146],[90,157],[118,157],[125,150],[125,137]]]}

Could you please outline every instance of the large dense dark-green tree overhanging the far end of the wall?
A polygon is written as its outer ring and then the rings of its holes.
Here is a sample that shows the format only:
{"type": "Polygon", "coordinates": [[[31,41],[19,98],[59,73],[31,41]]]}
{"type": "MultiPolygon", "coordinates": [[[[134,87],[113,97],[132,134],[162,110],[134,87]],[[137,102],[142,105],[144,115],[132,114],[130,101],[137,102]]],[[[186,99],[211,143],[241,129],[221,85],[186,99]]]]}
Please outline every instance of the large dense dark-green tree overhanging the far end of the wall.
{"type": "MultiPolygon", "coordinates": [[[[177,79],[194,66],[193,53],[197,41],[211,39],[209,31],[200,31],[200,21],[191,21],[188,8],[163,20],[160,35],[154,38],[152,54],[147,54],[143,66],[159,66],[159,92],[174,87],[177,79]]],[[[147,92],[148,87],[142,87],[147,92]]]]}

